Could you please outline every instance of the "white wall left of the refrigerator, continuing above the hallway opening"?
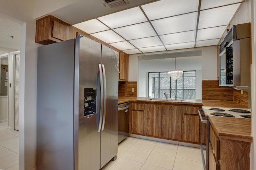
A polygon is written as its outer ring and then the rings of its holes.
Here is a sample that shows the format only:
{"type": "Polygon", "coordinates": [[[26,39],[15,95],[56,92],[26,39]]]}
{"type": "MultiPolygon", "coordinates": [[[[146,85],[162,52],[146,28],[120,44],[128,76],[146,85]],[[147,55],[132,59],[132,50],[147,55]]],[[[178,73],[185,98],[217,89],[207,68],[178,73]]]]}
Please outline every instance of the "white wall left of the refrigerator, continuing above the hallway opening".
{"type": "Polygon", "coordinates": [[[36,169],[36,22],[34,0],[4,0],[1,16],[21,25],[19,170],[36,169]],[[15,5],[14,5],[15,4],[15,5]]]}

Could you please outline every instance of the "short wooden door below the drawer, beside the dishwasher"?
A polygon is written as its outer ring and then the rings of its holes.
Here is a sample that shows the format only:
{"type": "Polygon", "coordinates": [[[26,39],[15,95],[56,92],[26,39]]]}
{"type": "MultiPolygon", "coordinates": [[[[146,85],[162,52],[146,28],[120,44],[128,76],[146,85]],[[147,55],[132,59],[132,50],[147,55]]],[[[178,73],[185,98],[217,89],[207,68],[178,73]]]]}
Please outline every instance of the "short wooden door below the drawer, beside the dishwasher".
{"type": "Polygon", "coordinates": [[[144,135],[144,111],[132,111],[131,133],[144,135]]]}

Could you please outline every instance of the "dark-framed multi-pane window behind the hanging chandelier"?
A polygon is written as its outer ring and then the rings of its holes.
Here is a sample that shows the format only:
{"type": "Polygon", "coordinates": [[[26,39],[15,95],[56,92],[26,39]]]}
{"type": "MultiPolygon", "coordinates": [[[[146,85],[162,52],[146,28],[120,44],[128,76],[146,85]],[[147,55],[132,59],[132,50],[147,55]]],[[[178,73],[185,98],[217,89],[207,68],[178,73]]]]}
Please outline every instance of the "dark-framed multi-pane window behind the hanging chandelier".
{"type": "Polygon", "coordinates": [[[151,98],[196,99],[196,71],[184,71],[177,80],[168,72],[148,73],[148,96],[151,98]]]}

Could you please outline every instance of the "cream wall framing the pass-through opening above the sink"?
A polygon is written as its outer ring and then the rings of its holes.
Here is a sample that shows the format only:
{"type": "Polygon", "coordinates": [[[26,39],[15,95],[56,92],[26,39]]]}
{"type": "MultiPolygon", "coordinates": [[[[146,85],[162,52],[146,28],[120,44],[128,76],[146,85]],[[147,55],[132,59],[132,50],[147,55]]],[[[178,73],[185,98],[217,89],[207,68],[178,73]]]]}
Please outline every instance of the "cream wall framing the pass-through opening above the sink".
{"type": "MultiPolygon", "coordinates": [[[[137,87],[139,88],[140,80],[139,78],[139,60],[138,56],[143,55],[154,55],[154,54],[164,54],[164,53],[178,53],[178,52],[188,52],[188,51],[202,51],[202,80],[217,80],[217,46],[209,46],[209,47],[198,47],[191,49],[181,49],[181,50],[172,50],[172,51],[162,51],[162,52],[154,52],[154,53],[143,53],[143,54],[134,54],[129,55],[129,81],[136,81],[137,87]]],[[[178,63],[176,62],[176,68],[178,68],[178,63]]],[[[166,71],[166,70],[164,70],[166,71]]],[[[199,78],[199,77],[198,77],[199,78]]],[[[197,86],[201,86],[202,84],[197,84],[197,86]]],[[[145,87],[145,86],[144,86],[145,87]]],[[[198,87],[197,87],[198,88],[198,87]]],[[[142,89],[143,90],[143,89],[142,89]]],[[[145,89],[146,90],[146,89],[145,89]]],[[[144,95],[144,92],[140,93],[140,90],[137,90],[137,96],[144,95]]],[[[202,92],[197,92],[197,97],[202,96],[202,92]]],[[[201,97],[202,98],[202,97],[201,97]]]]}

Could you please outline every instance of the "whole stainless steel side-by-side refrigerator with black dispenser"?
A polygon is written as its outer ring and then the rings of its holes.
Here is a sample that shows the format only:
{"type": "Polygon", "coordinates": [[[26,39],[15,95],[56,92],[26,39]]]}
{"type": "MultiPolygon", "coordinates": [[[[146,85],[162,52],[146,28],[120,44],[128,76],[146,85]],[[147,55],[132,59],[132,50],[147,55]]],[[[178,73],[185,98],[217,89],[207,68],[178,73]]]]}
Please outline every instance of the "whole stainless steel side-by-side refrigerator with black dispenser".
{"type": "Polygon", "coordinates": [[[38,47],[36,122],[38,170],[116,158],[118,53],[86,37],[38,47]]]}

